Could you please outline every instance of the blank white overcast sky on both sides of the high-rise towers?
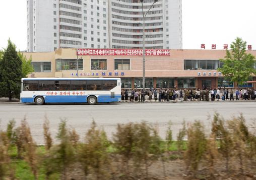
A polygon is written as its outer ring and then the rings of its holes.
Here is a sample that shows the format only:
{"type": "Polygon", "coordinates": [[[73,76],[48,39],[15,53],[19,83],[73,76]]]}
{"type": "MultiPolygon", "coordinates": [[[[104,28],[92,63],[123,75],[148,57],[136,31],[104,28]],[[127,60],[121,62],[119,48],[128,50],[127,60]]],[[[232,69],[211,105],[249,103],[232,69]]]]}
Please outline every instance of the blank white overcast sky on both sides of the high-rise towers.
{"type": "MultiPolygon", "coordinates": [[[[256,0],[182,0],[183,49],[201,49],[201,44],[212,49],[215,44],[223,50],[239,37],[256,50],[255,7],[256,0]]],[[[26,9],[25,0],[0,1],[1,49],[10,38],[17,50],[26,50],[26,9]]]]}

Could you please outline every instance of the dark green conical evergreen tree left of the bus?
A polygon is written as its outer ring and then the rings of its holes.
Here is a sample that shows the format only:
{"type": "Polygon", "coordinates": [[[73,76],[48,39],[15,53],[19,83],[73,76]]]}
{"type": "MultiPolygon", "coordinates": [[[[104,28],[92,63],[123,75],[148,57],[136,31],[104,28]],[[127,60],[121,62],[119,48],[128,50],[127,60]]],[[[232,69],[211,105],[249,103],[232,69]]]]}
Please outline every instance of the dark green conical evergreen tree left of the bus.
{"type": "Polygon", "coordinates": [[[16,52],[16,46],[8,40],[8,47],[1,52],[0,59],[0,97],[20,98],[22,61],[16,52]]]}

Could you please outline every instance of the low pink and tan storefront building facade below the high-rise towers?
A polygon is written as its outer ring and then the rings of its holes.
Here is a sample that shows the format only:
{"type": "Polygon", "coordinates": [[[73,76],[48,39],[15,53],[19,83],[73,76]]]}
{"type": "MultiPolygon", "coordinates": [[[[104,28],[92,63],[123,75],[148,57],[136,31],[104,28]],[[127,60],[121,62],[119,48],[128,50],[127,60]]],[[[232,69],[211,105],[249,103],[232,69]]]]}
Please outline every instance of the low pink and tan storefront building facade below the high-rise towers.
{"type": "MultiPolygon", "coordinates": [[[[196,89],[236,88],[217,71],[224,50],[148,50],[145,56],[145,87],[196,89]]],[[[255,51],[247,51],[256,56],[255,51]]],[[[36,72],[28,77],[120,77],[123,89],[142,88],[142,50],[57,49],[32,55],[36,72]],[[128,52],[129,51],[129,52],[128,52]],[[78,76],[77,76],[77,59],[78,76]]],[[[253,77],[251,80],[256,80],[253,77]]],[[[255,83],[244,87],[256,87],[255,83]]]]}

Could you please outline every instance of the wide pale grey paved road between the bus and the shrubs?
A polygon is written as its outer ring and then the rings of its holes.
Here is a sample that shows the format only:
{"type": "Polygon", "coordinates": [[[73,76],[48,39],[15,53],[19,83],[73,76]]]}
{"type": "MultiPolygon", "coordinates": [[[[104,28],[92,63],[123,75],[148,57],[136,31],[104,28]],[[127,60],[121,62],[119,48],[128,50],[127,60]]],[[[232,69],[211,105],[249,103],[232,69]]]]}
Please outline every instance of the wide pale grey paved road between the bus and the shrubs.
{"type": "Polygon", "coordinates": [[[256,120],[256,102],[232,101],[232,102],[179,102],[179,103],[119,103],[119,104],[47,104],[37,106],[35,104],[0,104],[1,129],[6,129],[8,121],[15,119],[17,125],[21,119],[26,118],[38,144],[43,144],[43,121],[45,116],[50,121],[52,136],[57,133],[58,123],[61,118],[66,118],[81,137],[84,137],[90,127],[92,119],[104,127],[109,138],[115,131],[117,123],[140,122],[147,120],[158,123],[162,138],[165,137],[166,125],[169,120],[173,122],[173,138],[176,138],[181,122],[202,120],[206,127],[210,121],[207,115],[213,115],[218,111],[225,119],[231,115],[242,112],[247,123],[256,120]]]}

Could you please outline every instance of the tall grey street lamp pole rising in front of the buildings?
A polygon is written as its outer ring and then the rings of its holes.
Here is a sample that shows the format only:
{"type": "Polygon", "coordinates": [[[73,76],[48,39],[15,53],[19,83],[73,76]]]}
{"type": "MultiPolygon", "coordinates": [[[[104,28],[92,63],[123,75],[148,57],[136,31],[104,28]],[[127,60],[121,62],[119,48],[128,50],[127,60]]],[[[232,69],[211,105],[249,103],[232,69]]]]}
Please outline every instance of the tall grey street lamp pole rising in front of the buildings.
{"type": "Polygon", "coordinates": [[[142,79],[142,83],[143,83],[143,91],[145,92],[145,18],[146,15],[148,14],[149,10],[152,8],[152,6],[158,1],[158,0],[154,0],[154,3],[151,5],[150,9],[148,10],[148,12],[144,15],[144,11],[143,11],[143,1],[144,0],[140,0],[141,4],[142,4],[142,16],[143,16],[143,48],[142,48],[142,53],[143,53],[143,79],[142,79]]]}

